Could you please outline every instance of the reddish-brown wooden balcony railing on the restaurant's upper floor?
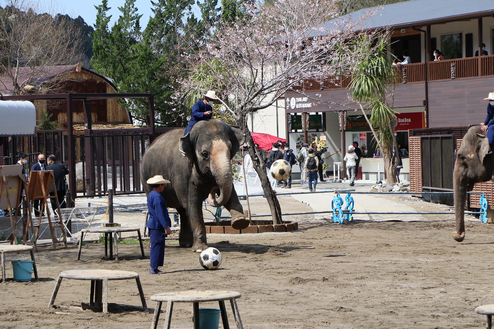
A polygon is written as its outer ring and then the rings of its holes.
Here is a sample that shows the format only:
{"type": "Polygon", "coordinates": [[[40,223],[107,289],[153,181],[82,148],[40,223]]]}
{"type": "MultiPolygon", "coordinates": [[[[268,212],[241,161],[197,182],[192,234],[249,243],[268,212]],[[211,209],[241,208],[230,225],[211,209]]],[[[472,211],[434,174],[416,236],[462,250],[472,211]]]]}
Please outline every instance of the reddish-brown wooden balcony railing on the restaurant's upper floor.
{"type": "MultiPolygon", "coordinates": [[[[494,55],[481,56],[481,74],[479,74],[479,58],[468,57],[450,59],[445,61],[428,63],[428,81],[447,80],[456,78],[476,77],[494,75],[494,55]]],[[[398,83],[421,82],[425,81],[425,63],[414,63],[403,66],[397,66],[399,74],[398,83]]],[[[306,79],[302,86],[293,87],[294,90],[324,90],[347,88],[350,84],[350,77],[338,79],[306,79]]]]}

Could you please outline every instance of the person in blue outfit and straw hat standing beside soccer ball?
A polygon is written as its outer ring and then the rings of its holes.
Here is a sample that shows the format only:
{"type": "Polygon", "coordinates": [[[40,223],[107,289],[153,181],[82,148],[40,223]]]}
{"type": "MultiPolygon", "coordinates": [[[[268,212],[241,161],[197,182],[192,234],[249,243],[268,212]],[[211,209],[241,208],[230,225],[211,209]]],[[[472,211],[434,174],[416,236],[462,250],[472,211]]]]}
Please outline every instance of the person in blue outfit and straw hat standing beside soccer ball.
{"type": "Polygon", "coordinates": [[[151,274],[161,274],[163,271],[158,269],[163,266],[165,259],[165,237],[171,233],[171,220],[168,216],[166,203],[163,196],[160,194],[165,188],[165,183],[170,183],[163,176],[156,175],[147,180],[153,190],[148,194],[148,214],[149,219],[146,227],[149,228],[149,243],[151,250],[149,257],[151,258],[151,274]]]}

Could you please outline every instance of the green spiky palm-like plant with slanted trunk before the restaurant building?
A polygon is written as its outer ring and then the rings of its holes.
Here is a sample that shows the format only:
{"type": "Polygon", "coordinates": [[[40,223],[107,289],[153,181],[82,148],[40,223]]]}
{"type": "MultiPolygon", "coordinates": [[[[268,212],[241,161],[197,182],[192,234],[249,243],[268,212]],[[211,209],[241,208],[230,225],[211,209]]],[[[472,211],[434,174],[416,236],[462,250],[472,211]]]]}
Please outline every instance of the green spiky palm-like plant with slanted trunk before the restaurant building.
{"type": "MultiPolygon", "coordinates": [[[[396,128],[395,111],[388,106],[387,86],[396,82],[397,72],[392,66],[393,55],[387,51],[387,38],[380,37],[376,51],[370,52],[362,65],[352,75],[349,94],[357,101],[371,127],[374,139],[381,150],[384,167],[387,172],[386,183],[396,183],[396,163],[393,147],[396,147],[394,131],[396,128]],[[364,110],[371,109],[371,118],[364,110]]],[[[391,93],[392,95],[393,93],[391,93]]]]}

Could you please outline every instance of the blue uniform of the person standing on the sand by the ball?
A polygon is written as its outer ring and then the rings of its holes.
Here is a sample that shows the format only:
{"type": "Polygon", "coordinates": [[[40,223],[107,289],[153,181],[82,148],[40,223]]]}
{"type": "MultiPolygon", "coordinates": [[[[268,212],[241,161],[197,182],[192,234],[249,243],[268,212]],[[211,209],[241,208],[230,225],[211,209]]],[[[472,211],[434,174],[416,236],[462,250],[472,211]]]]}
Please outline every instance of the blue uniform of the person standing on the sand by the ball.
{"type": "Polygon", "coordinates": [[[163,196],[155,190],[152,190],[148,195],[148,223],[149,242],[151,250],[149,257],[151,258],[151,268],[157,269],[158,266],[163,266],[165,259],[165,227],[171,227],[171,220],[168,216],[168,209],[163,196]]]}

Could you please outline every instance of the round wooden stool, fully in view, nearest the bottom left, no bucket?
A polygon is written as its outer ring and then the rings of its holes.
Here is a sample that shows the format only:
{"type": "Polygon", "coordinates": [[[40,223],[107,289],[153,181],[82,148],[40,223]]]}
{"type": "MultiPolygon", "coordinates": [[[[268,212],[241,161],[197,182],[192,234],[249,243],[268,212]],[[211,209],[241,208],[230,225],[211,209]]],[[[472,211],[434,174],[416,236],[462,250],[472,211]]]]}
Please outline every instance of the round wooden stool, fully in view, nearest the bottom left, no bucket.
{"type": "Polygon", "coordinates": [[[142,308],[145,312],[148,310],[146,298],[144,298],[144,292],[142,291],[141,281],[139,280],[139,274],[129,271],[111,270],[72,270],[61,272],[58,275],[55,289],[53,289],[53,294],[51,295],[48,309],[53,307],[53,303],[55,302],[55,298],[63,278],[73,280],[91,280],[89,305],[100,307],[101,304],[103,304],[103,313],[108,313],[108,281],[135,279],[137,289],[139,290],[139,295],[141,296],[142,308]]]}

